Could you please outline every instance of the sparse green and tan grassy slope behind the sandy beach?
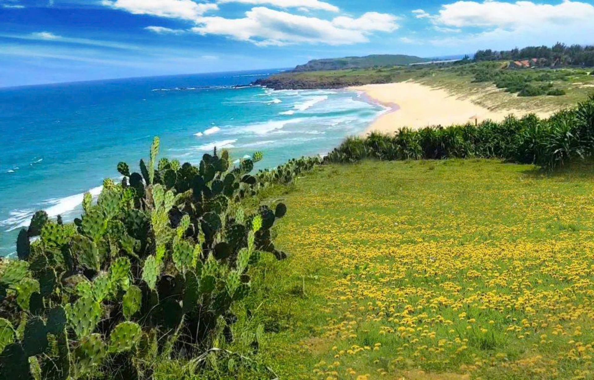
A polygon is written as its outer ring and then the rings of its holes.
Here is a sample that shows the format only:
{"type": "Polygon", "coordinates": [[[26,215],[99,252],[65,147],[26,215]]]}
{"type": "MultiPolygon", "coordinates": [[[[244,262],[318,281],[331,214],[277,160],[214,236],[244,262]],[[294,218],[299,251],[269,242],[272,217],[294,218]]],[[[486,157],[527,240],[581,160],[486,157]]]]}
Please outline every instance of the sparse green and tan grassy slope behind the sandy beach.
{"type": "MultiPolygon", "coordinates": [[[[467,66],[467,65],[466,65],[467,66]]],[[[532,70],[532,69],[530,69],[532,70]]],[[[544,72],[546,69],[535,71],[544,72]]],[[[555,81],[555,88],[567,91],[565,96],[537,96],[517,97],[503,89],[496,88],[492,83],[473,83],[473,75],[465,72],[464,66],[449,66],[445,68],[370,68],[347,69],[333,71],[301,72],[296,74],[280,74],[295,78],[305,83],[345,83],[370,84],[393,83],[405,80],[415,80],[432,87],[445,88],[463,99],[472,99],[482,106],[491,109],[531,109],[557,110],[574,106],[586,99],[594,92],[594,75],[577,74],[583,70],[568,69],[576,72],[570,80],[555,81]]]]}

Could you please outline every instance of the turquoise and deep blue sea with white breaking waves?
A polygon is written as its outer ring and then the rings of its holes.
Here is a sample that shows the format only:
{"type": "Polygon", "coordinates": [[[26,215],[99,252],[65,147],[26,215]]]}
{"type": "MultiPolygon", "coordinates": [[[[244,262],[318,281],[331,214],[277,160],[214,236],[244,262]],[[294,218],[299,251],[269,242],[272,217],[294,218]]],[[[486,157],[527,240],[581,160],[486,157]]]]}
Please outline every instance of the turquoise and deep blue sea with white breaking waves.
{"type": "Polygon", "coordinates": [[[72,220],[84,192],[120,178],[118,162],[137,170],[155,135],[160,157],[260,150],[263,169],[327,153],[384,112],[355,91],[232,87],[277,71],[0,88],[0,256],[15,251],[34,211],[72,220]]]}

